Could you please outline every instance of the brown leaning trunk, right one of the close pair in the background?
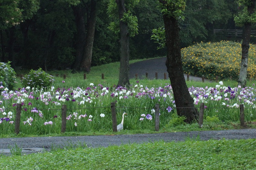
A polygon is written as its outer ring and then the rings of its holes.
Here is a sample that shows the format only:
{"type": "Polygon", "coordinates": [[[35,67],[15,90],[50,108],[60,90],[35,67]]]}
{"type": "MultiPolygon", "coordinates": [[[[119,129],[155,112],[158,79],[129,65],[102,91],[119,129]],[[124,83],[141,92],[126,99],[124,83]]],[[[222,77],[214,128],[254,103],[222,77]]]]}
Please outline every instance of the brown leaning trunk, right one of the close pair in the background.
{"type": "Polygon", "coordinates": [[[95,0],[91,0],[90,17],[87,22],[87,33],[84,46],[84,55],[80,63],[80,71],[90,72],[92,64],[92,47],[94,41],[95,24],[97,18],[97,9],[95,0]]]}

